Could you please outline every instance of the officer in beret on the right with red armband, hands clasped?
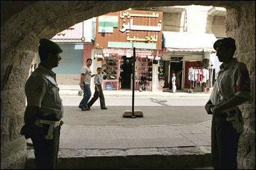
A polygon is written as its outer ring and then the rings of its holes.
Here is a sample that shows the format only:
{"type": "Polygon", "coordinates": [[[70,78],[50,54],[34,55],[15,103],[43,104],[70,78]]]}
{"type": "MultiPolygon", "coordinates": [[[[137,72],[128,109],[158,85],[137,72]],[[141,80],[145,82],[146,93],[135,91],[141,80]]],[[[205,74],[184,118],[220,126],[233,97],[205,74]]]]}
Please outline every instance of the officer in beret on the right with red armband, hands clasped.
{"type": "Polygon", "coordinates": [[[212,114],[212,164],[214,169],[237,169],[238,141],[243,132],[243,118],[237,105],[250,101],[250,77],[246,65],[233,58],[234,39],[219,39],[214,49],[223,64],[205,104],[207,113],[212,114]]]}

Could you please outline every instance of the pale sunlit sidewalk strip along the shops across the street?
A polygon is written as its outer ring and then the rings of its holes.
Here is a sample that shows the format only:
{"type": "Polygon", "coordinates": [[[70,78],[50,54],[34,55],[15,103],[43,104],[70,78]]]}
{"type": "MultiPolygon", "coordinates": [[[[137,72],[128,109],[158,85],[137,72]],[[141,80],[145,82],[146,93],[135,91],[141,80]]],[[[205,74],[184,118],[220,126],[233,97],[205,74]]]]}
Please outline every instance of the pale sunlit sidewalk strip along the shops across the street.
{"type": "MultiPolygon", "coordinates": [[[[80,87],[78,85],[58,85],[60,88],[60,96],[78,96],[78,92],[80,87]]],[[[94,89],[91,88],[92,95],[94,89]]],[[[132,90],[104,90],[105,97],[132,97],[132,90]]],[[[163,92],[163,91],[143,91],[139,92],[138,90],[134,91],[135,97],[210,97],[210,92],[176,92],[173,94],[172,92],[163,92]]]]}

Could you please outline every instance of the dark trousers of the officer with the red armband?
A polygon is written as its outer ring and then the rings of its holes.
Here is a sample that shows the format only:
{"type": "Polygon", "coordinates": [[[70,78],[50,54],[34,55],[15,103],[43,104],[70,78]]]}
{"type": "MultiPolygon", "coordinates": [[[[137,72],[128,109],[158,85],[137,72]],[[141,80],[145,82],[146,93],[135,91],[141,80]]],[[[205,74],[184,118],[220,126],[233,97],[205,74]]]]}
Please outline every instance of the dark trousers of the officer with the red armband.
{"type": "Polygon", "coordinates": [[[225,113],[212,115],[211,155],[214,169],[237,169],[237,148],[240,134],[227,122],[225,113]]]}

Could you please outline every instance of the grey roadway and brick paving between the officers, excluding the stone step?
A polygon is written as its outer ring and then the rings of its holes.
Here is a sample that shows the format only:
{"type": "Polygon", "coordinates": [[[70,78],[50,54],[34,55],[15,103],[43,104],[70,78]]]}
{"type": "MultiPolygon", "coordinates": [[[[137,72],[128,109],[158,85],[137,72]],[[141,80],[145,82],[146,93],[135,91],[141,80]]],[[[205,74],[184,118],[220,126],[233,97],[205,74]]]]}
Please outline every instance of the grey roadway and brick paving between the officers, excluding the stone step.
{"type": "Polygon", "coordinates": [[[132,109],[130,97],[106,97],[108,110],[100,110],[96,101],[90,111],[77,107],[81,96],[61,98],[65,124],[60,148],[211,145],[211,115],[204,110],[207,98],[137,98],[134,109],[143,112],[137,118],[122,117],[125,110],[132,109]]]}

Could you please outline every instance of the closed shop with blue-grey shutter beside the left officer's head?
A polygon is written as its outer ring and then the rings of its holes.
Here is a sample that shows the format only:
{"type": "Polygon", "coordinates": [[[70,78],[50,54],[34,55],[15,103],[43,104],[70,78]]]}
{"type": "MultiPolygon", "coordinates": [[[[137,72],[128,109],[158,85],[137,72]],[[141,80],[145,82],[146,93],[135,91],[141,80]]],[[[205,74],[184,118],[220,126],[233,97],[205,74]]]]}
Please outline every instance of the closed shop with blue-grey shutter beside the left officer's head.
{"type": "MultiPolygon", "coordinates": [[[[81,68],[86,60],[84,46],[93,45],[95,38],[95,18],[84,20],[64,31],[58,32],[52,41],[60,45],[63,52],[60,65],[52,69],[56,73],[58,84],[77,85],[80,80],[81,68]],[[86,26],[85,26],[86,25],[86,26]]],[[[86,52],[86,53],[85,53],[86,52]]]]}

